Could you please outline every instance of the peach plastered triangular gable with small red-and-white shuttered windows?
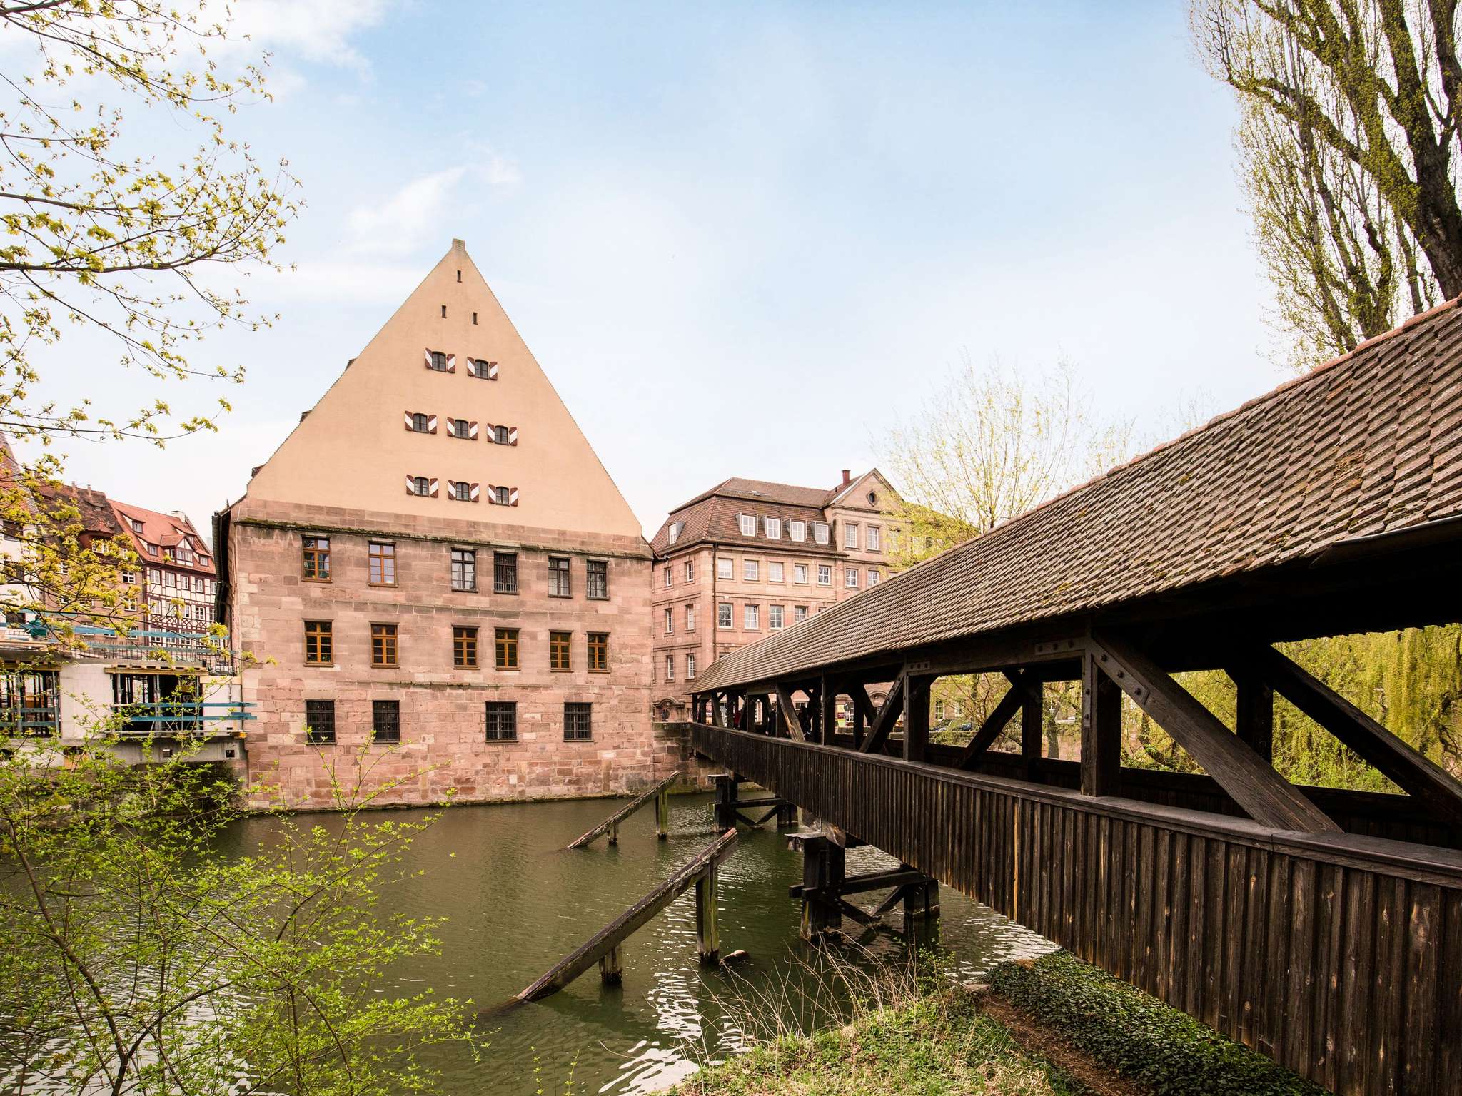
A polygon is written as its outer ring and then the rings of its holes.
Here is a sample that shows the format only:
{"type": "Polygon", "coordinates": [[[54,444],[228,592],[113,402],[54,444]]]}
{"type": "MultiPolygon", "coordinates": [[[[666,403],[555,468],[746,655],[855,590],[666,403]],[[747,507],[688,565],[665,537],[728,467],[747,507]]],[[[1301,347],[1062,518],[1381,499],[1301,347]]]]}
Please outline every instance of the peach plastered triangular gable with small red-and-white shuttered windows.
{"type": "Polygon", "coordinates": [[[249,498],[640,536],[624,497],[458,243],[259,469],[249,498]],[[455,355],[455,371],[428,370],[428,349],[455,355]],[[497,378],[472,377],[468,358],[497,362],[497,378]],[[412,412],[436,416],[436,433],[408,431],[412,412]],[[477,422],[477,437],[452,437],[449,418],[477,422]],[[488,424],[516,428],[518,444],[488,441],[488,424]],[[437,479],[437,497],[408,494],[405,478],[414,475],[437,479]],[[480,501],[449,498],[447,481],[480,484],[480,501]],[[490,504],[488,485],[515,488],[518,506],[490,504]]]}

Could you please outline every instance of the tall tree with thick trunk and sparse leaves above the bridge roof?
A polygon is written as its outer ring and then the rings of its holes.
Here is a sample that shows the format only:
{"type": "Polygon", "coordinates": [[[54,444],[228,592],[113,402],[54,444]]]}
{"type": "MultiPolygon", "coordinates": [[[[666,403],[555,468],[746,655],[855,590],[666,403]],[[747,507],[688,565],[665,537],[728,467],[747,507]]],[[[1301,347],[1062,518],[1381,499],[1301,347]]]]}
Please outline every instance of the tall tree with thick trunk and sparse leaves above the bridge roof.
{"type": "Polygon", "coordinates": [[[1294,364],[1462,294],[1458,6],[1193,0],[1294,364]]]}

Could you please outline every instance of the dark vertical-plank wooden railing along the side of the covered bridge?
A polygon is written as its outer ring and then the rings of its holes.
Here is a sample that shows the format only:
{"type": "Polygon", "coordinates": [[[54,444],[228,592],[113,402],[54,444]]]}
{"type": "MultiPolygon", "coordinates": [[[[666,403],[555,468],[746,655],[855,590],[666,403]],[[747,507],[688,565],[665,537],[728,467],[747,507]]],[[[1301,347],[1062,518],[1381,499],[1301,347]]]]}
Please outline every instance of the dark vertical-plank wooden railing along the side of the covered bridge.
{"type": "Polygon", "coordinates": [[[1462,852],[702,723],[692,742],[1327,1089],[1462,1090],[1462,852]]]}

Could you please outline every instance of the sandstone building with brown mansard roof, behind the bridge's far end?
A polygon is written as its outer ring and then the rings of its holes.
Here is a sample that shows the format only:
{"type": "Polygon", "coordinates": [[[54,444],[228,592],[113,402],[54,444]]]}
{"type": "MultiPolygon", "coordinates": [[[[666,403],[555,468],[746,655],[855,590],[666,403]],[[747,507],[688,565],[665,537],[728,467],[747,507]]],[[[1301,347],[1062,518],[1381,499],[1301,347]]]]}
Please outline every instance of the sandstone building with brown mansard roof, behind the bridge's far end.
{"type": "Polygon", "coordinates": [[[696,674],[877,585],[905,536],[877,469],[832,490],[727,479],[675,507],[651,541],[655,713],[683,719],[696,674]]]}

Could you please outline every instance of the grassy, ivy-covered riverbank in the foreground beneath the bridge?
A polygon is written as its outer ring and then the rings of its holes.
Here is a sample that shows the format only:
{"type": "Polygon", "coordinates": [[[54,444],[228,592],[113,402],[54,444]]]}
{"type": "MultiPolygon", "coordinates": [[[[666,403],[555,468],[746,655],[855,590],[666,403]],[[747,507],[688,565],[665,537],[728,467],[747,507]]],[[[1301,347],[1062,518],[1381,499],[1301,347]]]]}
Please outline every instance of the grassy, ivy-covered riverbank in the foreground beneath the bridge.
{"type": "Polygon", "coordinates": [[[756,1046],[677,1096],[1323,1096],[1263,1055],[1067,951],[925,988],[844,1027],[756,1046]]]}

